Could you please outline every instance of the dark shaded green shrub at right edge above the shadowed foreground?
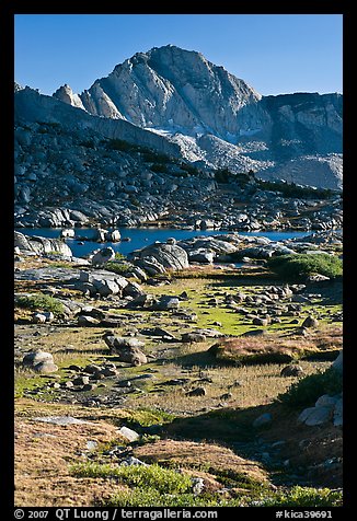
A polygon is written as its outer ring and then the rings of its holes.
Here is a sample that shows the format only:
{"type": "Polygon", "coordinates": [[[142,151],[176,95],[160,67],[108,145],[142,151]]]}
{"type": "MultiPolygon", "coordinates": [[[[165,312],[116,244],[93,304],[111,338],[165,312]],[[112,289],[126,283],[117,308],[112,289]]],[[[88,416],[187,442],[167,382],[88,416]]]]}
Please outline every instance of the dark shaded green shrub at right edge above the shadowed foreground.
{"type": "Polygon", "coordinates": [[[324,372],[309,374],[293,383],[286,393],[277,400],[291,407],[313,405],[323,394],[338,394],[343,389],[342,374],[333,368],[324,372]]]}

